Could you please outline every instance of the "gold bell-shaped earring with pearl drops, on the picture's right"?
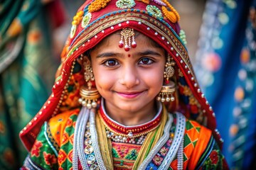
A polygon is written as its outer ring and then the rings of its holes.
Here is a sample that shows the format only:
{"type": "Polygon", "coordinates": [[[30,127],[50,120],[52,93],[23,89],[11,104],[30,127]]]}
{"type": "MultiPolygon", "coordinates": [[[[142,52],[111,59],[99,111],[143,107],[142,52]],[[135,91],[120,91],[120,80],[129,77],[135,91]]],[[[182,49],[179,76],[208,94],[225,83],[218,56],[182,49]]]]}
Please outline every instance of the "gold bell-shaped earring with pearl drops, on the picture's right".
{"type": "Polygon", "coordinates": [[[174,91],[175,91],[175,83],[174,81],[170,81],[169,78],[174,76],[174,66],[175,62],[171,61],[171,56],[167,55],[167,61],[164,69],[164,78],[165,84],[162,86],[159,96],[157,96],[156,100],[165,102],[165,101],[174,101],[174,91]]]}

